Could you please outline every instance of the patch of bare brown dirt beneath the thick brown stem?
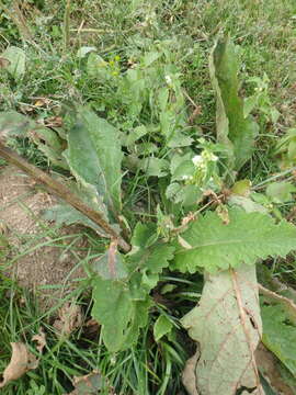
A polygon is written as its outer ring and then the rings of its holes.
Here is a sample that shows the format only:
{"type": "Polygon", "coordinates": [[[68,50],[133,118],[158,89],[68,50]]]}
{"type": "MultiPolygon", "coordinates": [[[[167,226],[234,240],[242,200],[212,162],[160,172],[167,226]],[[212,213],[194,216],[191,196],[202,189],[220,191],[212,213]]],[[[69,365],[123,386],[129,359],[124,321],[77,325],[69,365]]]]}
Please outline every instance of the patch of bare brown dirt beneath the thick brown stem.
{"type": "Polygon", "coordinates": [[[73,237],[67,237],[77,234],[78,228],[55,230],[41,221],[42,211],[54,204],[55,198],[38,191],[35,182],[15,167],[8,166],[0,171],[0,228],[10,246],[2,263],[12,262],[7,273],[20,285],[38,291],[48,306],[73,289],[72,279],[86,276],[78,264],[86,240],[77,237],[73,242],[73,237]],[[69,244],[73,245],[67,249],[69,244]],[[44,285],[59,285],[59,289],[45,290],[44,285]]]}

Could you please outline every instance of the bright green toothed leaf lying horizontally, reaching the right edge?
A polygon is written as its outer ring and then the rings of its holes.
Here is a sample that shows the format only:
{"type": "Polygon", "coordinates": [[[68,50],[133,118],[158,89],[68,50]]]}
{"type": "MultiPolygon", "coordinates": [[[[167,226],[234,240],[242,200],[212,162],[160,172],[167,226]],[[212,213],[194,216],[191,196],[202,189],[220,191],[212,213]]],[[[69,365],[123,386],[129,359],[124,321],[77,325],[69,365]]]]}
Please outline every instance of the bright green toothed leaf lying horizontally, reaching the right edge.
{"type": "Polygon", "coordinates": [[[296,249],[296,227],[286,221],[275,224],[262,213],[229,208],[228,225],[207,212],[181,235],[181,244],[186,248],[177,250],[175,269],[194,273],[201,267],[215,272],[243,262],[252,264],[259,258],[286,256],[296,249]]]}

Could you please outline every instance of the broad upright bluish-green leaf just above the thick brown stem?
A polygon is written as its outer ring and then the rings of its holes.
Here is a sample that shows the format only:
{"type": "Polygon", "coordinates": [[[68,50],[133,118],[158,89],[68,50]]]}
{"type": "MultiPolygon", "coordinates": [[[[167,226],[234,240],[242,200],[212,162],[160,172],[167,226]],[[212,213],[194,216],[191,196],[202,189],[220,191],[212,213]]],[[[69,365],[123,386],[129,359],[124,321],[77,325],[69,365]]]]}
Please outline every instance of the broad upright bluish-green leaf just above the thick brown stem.
{"type": "Polygon", "coordinates": [[[94,185],[112,212],[121,210],[121,163],[118,131],[86,108],[77,109],[68,134],[66,159],[76,179],[94,185]]]}

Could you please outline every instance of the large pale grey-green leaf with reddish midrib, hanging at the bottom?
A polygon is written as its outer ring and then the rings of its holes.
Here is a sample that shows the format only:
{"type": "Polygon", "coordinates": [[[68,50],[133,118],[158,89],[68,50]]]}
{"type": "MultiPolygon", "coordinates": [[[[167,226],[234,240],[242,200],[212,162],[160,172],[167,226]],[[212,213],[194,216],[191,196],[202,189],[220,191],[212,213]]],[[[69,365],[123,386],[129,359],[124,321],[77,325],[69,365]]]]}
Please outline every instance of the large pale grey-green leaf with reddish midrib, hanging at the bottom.
{"type": "Polygon", "coordinates": [[[191,395],[263,395],[254,361],[262,332],[255,268],[241,266],[206,280],[198,306],[182,319],[198,342],[183,382],[191,395]]]}

